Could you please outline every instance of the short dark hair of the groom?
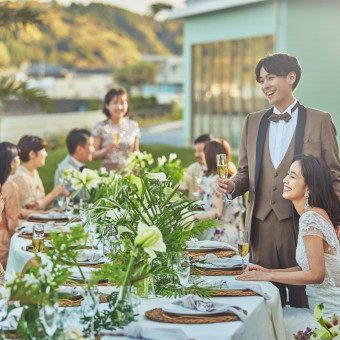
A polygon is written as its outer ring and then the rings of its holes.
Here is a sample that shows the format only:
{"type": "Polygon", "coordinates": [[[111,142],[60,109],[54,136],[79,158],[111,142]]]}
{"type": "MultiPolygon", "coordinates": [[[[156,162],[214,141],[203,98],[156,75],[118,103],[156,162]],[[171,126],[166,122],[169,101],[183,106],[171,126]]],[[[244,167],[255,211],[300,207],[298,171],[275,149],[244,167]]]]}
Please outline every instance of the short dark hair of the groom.
{"type": "Polygon", "coordinates": [[[293,84],[293,90],[298,86],[301,79],[302,69],[299,60],[285,53],[275,53],[262,58],[255,69],[256,81],[260,82],[260,71],[264,68],[268,73],[275,74],[279,77],[287,77],[290,72],[296,74],[296,80],[293,84]]]}

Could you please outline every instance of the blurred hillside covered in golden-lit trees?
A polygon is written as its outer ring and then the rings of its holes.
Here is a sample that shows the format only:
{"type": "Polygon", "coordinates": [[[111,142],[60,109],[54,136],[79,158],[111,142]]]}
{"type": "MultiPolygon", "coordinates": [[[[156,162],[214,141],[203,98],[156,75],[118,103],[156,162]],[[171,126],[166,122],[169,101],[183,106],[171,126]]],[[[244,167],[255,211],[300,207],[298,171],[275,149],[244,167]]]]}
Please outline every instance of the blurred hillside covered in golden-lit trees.
{"type": "MultiPolygon", "coordinates": [[[[11,6],[19,6],[17,2],[11,6]]],[[[43,23],[18,27],[0,37],[0,66],[45,62],[75,69],[118,68],[142,54],[180,54],[182,26],[93,3],[64,7],[30,1],[43,23]]]]}

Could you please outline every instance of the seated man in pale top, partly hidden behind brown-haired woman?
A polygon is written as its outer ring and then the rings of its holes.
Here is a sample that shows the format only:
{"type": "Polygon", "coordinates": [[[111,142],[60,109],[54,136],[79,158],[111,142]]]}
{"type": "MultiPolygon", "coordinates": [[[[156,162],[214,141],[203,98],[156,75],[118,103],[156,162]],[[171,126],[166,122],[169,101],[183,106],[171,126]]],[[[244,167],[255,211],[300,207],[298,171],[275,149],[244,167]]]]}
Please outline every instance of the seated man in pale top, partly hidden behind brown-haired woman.
{"type": "Polygon", "coordinates": [[[195,157],[197,162],[191,164],[188,169],[184,182],[180,185],[180,190],[190,199],[197,200],[199,197],[197,185],[202,184],[204,168],[204,145],[213,139],[210,133],[197,137],[194,141],[195,157]],[[200,183],[197,183],[198,182],[200,183]]]}

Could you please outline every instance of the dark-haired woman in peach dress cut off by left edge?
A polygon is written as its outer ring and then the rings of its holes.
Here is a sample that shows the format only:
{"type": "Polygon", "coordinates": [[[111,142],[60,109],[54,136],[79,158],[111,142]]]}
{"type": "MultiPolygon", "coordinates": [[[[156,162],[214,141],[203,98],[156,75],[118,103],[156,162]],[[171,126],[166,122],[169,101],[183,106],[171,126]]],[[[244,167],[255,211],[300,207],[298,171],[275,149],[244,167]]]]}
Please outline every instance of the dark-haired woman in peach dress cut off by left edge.
{"type": "Polygon", "coordinates": [[[11,237],[15,232],[15,228],[20,224],[19,189],[10,177],[17,170],[19,163],[16,145],[7,142],[0,143],[0,184],[4,201],[0,222],[0,262],[3,268],[6,268],[11,237]]]}

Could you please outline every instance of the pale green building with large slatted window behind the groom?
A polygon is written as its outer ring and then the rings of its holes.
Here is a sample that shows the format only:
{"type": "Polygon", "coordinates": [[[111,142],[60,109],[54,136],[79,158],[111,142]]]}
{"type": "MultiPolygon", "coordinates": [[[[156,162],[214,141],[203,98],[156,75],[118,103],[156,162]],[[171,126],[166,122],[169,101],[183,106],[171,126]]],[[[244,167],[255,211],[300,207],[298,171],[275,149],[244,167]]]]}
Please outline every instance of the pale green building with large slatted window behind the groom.
{"type": "Polygon", "coordinates": [[[258,60],[274,52],[299,58],[296,97],[332,113],[340,131],[340,2],[335,0],[191,0],[184,19],[184,131],[238,147],[245,116],[268,106],[255,82],[258,60]]]}

